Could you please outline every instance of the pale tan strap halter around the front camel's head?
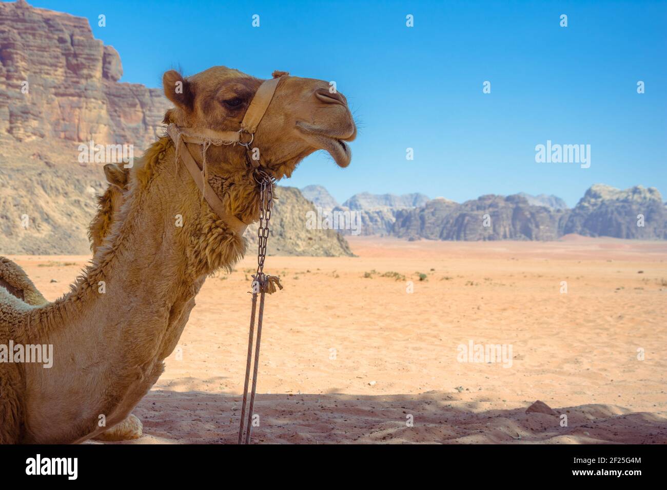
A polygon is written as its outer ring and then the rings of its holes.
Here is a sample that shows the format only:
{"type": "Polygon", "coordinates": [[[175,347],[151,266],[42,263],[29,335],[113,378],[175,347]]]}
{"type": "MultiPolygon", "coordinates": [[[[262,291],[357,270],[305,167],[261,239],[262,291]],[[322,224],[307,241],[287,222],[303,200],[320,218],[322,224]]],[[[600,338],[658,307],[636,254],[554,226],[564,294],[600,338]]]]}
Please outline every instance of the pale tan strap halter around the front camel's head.
{"type": "MultiPolygon", "coordinates": [[[[193,181],[195,181],[197,187],[199,187],[203,199],[206,200],[211,209],[213,209],[215,214],[218,215],[225,225],[239,236],[243,235],[243,232],[247,228],[247,223],[243,223],[243,221],[227,211],[222,200],[208,183],[206,151],[211,145],[241,145],[250,152],[250,145],[255,141],[255,131],[257,131],[257,127],[259,126],[259,123],[261,123],[261,119],[264,117],[266,109],[269,107],[269,104],[273,99],[275,89],[280,81],[288,76],[289,73],[287,72],[274,71],[272,79],[265,80],[259,85],[259,89],[257,89],[255,96],[250,101],[247,111],[245,111],[245,116],[243,117],[243,121],[241,121],[241,128],[238,131],[213,131],[212,129],[178,127],[173,123],[167,126],[167,134],[171,137],[175,145],[176,163],[178,163],[180,156],[185,168],[191,175],[193,181]],[[245,136],[247,141],[243,141],[243,133],[247,135],[245,136]],[[201,168],[199,168],[199,165],[193,158],[187,145],[184,145],[185,151],[179,153],[179,150],[181,149],[181,141],[202,146],[201,157],[203,163],[201,168]]],[[[261,166],[261,161],[253,158],[248,158],[247,160],[252,165],[255,174],[257,175],[258,182],[261,183],[268,180],[269,184],[273,183],[273,179],[269,173],[259,168],[261,166]]]]}

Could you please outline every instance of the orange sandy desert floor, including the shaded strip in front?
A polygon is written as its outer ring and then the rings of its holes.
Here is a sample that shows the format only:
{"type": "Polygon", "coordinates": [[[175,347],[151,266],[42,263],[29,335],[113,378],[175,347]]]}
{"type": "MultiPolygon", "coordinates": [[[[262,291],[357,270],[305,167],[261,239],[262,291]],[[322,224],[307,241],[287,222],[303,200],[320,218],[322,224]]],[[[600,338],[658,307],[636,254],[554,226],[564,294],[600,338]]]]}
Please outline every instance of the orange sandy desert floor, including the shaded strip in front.
{"type": "MultiPolygon", "coordinates": [[[[255,442],[667,443],[667,243],[350,244],[267,258],[255,442]],[[511,361],[460,362],[470,342],[511,361]]],[[[88,259],[11,258],[47,299],[88,259]]],[[[236,441],[254,263],[207,280],[129,443],[236,441]]]]}

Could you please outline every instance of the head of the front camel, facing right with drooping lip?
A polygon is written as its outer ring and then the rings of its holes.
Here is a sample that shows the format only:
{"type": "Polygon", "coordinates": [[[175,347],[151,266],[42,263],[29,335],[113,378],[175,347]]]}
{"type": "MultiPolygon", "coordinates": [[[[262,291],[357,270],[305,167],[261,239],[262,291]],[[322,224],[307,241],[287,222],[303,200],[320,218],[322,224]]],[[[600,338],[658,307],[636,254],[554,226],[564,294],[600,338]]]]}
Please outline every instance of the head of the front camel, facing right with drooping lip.
{"type": "MultiPolygon", "coordinates": [[[[274,72],[273,77],[287,75],[274,72]]],[[[227,67],[212,67],[183,77],[177,71],[163,76],[165,95],[174,104],[165,123],[213,131],[237,131],[262,80],[227,67]]],[[[283,76],[255,132],[252,147],[273,177],[289,177],[299,161],[325,150],[340,167],[350,165],[352,153],[346,141],[357,128],[348,101],[329,91],[323,80],[283,76]]],[[[211,147],[211,161],[240,166],[245,161],[239,145],[211,147]]]]}

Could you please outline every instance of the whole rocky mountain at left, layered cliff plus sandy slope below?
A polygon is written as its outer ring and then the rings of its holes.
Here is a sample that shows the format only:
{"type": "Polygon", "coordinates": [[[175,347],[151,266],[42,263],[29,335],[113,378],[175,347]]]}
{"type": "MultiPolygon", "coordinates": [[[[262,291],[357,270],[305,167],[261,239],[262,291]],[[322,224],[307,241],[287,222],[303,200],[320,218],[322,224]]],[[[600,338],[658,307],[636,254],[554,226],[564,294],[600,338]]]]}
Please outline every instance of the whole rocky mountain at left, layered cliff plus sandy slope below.
{"type": "Polygon", "coordinates": [[[0,3],[0,253],[89,253],[86,227],[105,187],[79,144],[155,140],[159,89],[118,83],[120,57],[87,19],[0,3]]]}

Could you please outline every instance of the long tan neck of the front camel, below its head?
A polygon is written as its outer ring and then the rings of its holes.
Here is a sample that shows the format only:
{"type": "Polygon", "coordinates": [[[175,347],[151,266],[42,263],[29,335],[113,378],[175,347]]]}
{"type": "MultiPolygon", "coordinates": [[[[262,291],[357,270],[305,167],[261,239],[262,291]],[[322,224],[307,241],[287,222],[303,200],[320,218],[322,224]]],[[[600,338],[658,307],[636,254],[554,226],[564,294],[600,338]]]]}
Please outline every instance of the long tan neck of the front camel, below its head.
{"type": "Polygon", "coordinates": [[[73,291],[30,313],[30,341],[53,345],[53,367],[25,366],[26,442],[77,442],[127,417],[162,373],[205,275],[243,252],[173,151],[161,156],[133,171],[117,223],[73,291]]]}

